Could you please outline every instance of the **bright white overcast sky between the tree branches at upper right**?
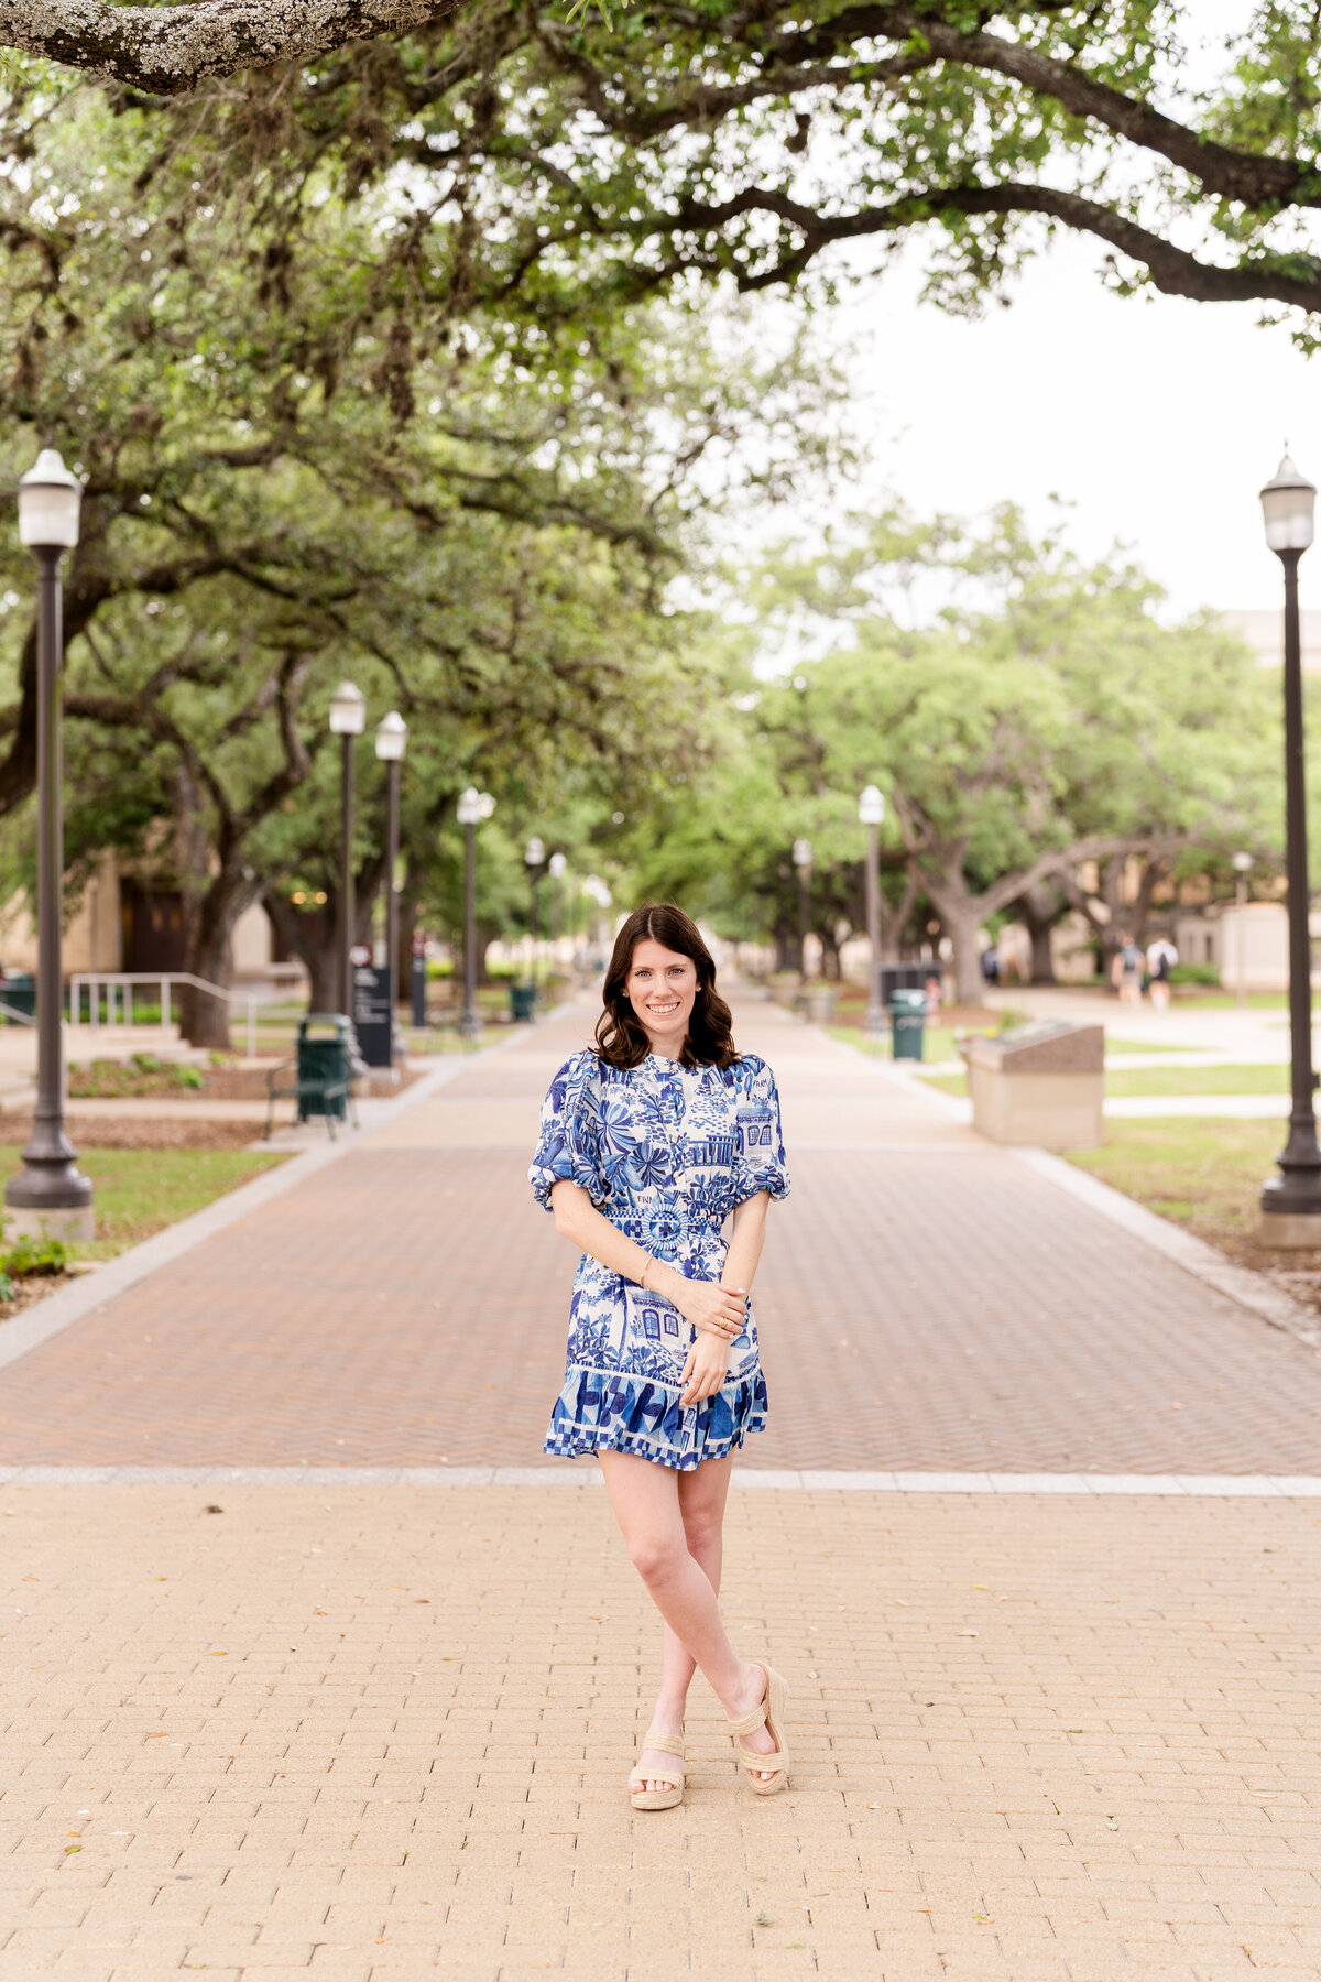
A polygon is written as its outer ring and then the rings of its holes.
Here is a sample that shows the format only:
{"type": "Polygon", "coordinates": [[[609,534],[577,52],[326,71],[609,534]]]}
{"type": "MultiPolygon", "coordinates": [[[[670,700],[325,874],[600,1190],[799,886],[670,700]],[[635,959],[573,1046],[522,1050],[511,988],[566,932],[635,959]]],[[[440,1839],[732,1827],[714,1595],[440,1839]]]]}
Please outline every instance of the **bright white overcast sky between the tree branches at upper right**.
{"type": "MultiPolygon", "coordinates": [[[[1218,69],[1214,38],[1248,14],[1246,0],[1198,0],[1208,40],[1190,65],[1218,69]]],[[[1012,307],[980,323],[917,301],[917,240],[852,291],[828,341],[854,353],[852,426],[873,464],[862,490],[838,492],[838,513],[893,490],[923,511],[1008,497],[1042,525],[1058,494],[1077,549],[1131,545],[1174,612],[1275,606],[1258,490],[1285,436],[1321,484],[1321,357],[1260,329],[1250,303],[1115,297],[1097,277],[1103,256],[1101,242],[1058,236],[1012,307]]],[[[1303,605],[1321,606],[1321,545],[1301,583],[1303,605]]]]}

